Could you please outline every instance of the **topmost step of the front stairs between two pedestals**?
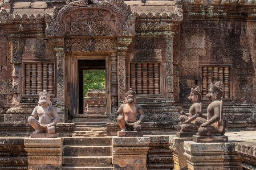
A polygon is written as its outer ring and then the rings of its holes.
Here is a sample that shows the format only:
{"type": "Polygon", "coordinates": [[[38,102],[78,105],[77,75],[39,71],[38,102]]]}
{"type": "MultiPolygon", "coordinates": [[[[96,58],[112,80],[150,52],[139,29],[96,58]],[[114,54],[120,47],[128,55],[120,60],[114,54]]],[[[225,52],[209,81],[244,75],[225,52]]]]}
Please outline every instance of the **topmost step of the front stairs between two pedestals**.
{"type": "Polygon", "coordinates": [[[63,146],[112,146],[111,137],[66,137],[63,146]]]}

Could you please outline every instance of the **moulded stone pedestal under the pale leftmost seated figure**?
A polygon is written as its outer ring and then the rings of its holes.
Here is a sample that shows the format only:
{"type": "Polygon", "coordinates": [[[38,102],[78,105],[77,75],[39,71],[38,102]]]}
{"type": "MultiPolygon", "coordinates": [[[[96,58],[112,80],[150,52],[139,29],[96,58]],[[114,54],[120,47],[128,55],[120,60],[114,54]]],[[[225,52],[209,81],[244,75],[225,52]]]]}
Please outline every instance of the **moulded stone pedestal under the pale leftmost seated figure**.
{"type": "Polygon", "coordinates": [[[61,138],[24,139],[29,169],[61,169],[62,143],[61,138]]]}

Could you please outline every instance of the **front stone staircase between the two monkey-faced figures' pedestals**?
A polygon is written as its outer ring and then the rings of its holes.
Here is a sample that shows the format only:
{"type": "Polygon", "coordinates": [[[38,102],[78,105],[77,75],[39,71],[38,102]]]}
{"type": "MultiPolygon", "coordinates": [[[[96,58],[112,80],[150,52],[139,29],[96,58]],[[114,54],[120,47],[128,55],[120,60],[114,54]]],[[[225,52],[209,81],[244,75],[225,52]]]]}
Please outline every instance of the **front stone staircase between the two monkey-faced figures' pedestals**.
{"type": "Polygon", "coordinates": [[[110,170],[112,137],[63,138],[63,170],[110,170]]]}

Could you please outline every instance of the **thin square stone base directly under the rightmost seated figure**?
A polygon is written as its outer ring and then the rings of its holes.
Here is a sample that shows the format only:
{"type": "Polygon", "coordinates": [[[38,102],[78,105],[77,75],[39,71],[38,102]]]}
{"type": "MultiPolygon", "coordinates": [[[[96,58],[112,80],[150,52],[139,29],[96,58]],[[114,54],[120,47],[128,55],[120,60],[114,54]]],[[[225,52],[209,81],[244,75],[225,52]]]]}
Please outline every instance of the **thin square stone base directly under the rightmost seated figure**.
{"type": "Polygon", "coordinates": [[[193,142],[196,143],[223,143],[229,142],[228,136],[193,136],[193,142]]]}

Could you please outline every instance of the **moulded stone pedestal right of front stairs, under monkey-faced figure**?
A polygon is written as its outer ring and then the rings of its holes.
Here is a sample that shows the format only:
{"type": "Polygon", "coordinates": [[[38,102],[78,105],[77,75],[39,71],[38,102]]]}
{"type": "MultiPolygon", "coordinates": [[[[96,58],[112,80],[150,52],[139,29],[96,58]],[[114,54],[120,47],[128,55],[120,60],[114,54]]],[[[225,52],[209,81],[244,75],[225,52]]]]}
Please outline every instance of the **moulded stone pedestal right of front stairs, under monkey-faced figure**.
{"type": "Polygon", "coordinates": [[[148,137],[114,137],[113,168],[147,170],[148,137]]]}

